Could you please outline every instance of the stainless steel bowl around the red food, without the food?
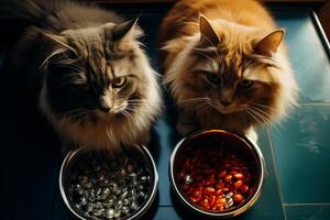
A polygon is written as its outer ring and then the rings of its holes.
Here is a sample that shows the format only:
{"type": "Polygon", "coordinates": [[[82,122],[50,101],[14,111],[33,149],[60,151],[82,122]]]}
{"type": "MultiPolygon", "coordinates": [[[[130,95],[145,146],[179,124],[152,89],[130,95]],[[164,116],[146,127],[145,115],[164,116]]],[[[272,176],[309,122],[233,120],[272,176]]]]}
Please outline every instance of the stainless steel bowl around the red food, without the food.
{"type": "MultiPolygon", "coordinates": [[[[207,151],[207,148],[205,148],[205,151],[207,151]]],[[[193,133],[177,143],[170,156],[169,176],[175,195],[179,198],[180,204],[183,204],[184,207],[186,207],[193,213],[200,215],[204,218],[230,218],[243,213],[258,199],[265,180],[265,162],[258,146],[252,143],[248,138],[223,130],[204,130],[193,133]],[[223,211],[209,211],[191,204],[185,197],[179,187],[180,167],[183,166],[187,152],[194,151],[194,147],[197,145],[196,143],[198,143],[200,140],[208,140],[215,144],[221,143],[223,146],[231,147],[231,150],[234,148],[235,152],[244,154],[245,157],[248,157],[253,164],[254,180],[252,193],[250,193],[250,196],[246,198],[243,205],[223,211]]]]}

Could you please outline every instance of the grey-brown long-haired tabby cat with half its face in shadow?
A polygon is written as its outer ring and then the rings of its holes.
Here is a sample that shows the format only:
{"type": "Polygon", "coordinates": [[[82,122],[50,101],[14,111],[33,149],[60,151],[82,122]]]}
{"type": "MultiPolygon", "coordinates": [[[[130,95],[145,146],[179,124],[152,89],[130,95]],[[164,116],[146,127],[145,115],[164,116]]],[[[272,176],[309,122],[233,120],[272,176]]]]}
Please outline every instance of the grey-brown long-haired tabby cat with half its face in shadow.
{"type": "Polygon", "coordinates": [[[138,21],[81,2],[18,2],[11,13],[28,26],[11,63],[59,136],[113,151],[146,144],[162,100],[138,21]]]}

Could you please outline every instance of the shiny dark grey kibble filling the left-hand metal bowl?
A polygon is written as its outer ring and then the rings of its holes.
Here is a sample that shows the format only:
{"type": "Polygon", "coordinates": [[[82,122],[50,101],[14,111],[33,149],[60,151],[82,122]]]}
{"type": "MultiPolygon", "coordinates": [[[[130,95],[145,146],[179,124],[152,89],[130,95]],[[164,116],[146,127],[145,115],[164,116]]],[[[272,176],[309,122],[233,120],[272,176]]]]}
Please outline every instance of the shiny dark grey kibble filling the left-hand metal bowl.
{"type": "Polygon", "coordinates": [[[78,157],[72,172],[69,198],[89,219],[130,216],[151,190],[150,170],[123,154],[109,158],[89,153],[78,157]]]}

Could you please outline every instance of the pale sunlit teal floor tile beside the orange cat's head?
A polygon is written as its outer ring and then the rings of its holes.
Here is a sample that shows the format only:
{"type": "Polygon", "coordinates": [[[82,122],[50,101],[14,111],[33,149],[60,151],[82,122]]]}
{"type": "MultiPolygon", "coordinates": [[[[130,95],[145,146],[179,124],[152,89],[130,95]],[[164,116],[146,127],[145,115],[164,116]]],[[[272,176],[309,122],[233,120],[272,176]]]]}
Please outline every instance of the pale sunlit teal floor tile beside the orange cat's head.
{"type": "Polygon", "coordinates": [[[309,12],[279,13],[300,102],[330,102],[330,64],[309,12]]]}

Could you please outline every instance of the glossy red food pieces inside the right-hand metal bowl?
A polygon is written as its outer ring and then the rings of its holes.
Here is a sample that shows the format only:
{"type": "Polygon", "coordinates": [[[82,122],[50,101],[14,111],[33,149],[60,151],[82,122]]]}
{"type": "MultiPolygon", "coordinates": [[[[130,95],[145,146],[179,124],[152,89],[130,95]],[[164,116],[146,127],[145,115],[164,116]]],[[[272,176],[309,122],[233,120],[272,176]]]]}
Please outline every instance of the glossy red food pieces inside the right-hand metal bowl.
{"type": "Polygon", "coordinates": [[[184,161],[180,189],[188,200],[209,211],[226,211],[250,195],[251,173],[246,163],[224,150],[195,151],[184,161]]]}

